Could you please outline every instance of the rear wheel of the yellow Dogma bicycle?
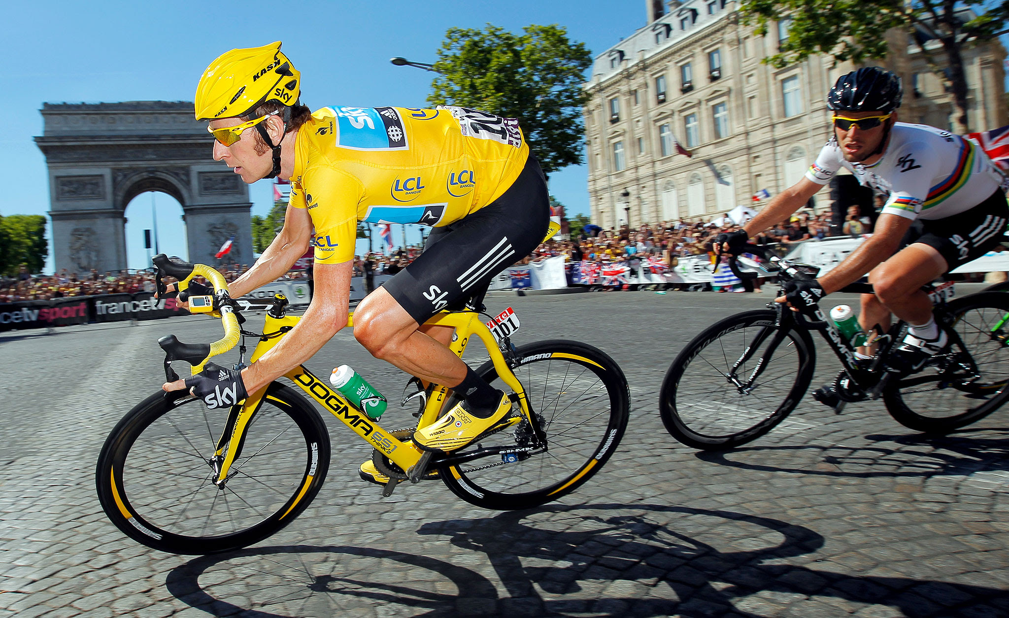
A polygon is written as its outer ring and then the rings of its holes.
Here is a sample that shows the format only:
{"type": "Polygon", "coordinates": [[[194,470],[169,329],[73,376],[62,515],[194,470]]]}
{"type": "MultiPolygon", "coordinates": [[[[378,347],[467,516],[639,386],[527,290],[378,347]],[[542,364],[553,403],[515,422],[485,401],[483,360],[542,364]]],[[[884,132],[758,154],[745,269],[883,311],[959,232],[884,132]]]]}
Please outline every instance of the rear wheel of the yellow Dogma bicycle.
{"type": "MultiPolygon", "coordinates": [[[[627,378],[605,352],[586,343],[552,339],[523,345],[516,357],[519,366],[513,372],[543,420],[547,450],[515,462],[486,457],[439,469],[453,494],[485,509],[530,509],[570,494],[602,469],[627,428],[627,378]],[[590,435],[585,434],[588,430],[590,435]]],[[[493,363],[488,360],[476,373],[495,388],[509,390],[502,382],[494,384],[493,363]]],[[[450,400],[446,409],[455,401],[450,400]]],[[[457,453],[480,445],[521,444],[523,432],[529,430],[523,421],[457,453]]]]}

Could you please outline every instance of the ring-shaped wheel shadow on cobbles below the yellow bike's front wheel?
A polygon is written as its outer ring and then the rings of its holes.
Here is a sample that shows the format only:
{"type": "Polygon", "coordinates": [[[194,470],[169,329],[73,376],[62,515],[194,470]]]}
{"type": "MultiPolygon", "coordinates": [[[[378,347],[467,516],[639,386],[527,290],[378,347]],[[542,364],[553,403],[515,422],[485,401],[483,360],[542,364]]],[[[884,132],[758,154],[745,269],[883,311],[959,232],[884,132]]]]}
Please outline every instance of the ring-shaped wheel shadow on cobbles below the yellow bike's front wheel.
{"type": "MultiPolygon", "coordinates": [[[[398,569],[389,573],[404,572],[407,570],[398,569]]],[[[348,545],[276,545],[204,555],[173,569],[164,584],[174,597],[194,608],[213,616],[245,618],[336,616],[366,609],[360,606],[334,608],[334,604],[339,605],[335,601],[337,595],[369,605],[384,603],[415,608],[422,613],[413,615],[431,618],[456,616],[460,607],[479,608],[487,603],[492,606],[497,599],[493,584],[469,569],[424,555],[348,545]],[[283,560],[281,554],[294,554],[297,560],[283,560]],[[367,580],[373,577],[373,572],[341,573],[341,565],[350,560],[326,560],[327,556],[320,555],[315,561],[306,561],[306,556],[311,554],[372,558],[372,565],[376,560],[393,560],[401,566],[428,570],[455,585],[458,594],[442,593],[431,586],[412,583],[375,584],[367,580]],[[219,571],[215,569],[218,566],[219,571]],[[327,571],[331,573],[325,573],[327,571]],[[201,577],[210,582],[201,586],[201,577]],[[261,607],[274,609],[243,608],[231,601],[215,598],[208,592],[215,586],[227,587],[229,582],[241,585],[240,589],[222,588],[229,599],[255,595],[261,607]]]]}

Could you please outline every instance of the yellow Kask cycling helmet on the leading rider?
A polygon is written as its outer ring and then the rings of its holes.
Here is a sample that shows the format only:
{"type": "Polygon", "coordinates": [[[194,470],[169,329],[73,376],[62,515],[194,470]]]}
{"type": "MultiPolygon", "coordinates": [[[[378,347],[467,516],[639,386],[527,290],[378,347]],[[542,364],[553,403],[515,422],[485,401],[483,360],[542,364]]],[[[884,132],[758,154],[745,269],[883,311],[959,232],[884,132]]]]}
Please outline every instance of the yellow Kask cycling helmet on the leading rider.
{"type": "Polygon", "coordinates": [[[225,52],[196,87],[196,119],[241,116],[266,101],[298,102],[301,73],[281,54],[281,41],[225,52]]]}

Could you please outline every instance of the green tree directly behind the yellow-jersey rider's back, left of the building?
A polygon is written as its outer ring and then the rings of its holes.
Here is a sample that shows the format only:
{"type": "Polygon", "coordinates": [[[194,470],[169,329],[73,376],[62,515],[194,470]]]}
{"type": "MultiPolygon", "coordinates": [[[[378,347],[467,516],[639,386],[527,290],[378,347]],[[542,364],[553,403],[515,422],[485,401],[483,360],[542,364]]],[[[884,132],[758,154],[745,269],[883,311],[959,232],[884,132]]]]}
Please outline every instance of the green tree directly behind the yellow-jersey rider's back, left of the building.
{"type": "Polygon", "coordinates": [[[592,56],[558,25],[523,34],[487,24],[449,28],[438,48],[432,105],[459,105],[517,118],[547,174],[582,163],[581,85],[592,56]]]}

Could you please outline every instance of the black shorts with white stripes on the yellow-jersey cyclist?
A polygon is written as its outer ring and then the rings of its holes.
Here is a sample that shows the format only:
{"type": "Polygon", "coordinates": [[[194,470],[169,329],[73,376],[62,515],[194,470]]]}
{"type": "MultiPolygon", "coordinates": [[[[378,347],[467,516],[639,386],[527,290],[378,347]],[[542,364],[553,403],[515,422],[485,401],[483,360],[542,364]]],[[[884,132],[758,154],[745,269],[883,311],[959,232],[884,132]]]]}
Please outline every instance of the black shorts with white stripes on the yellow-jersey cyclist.
{"type": "Polygon", "coordinates": [[[432,229],[424,251],[383,287],[423,324],[442,309],[482,297],[495,275],[543,242],[549,225],[547,179],[530,152],[508,191],[464,219],[432,229]]]}

